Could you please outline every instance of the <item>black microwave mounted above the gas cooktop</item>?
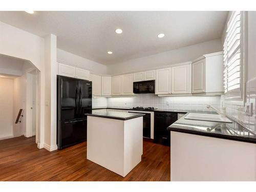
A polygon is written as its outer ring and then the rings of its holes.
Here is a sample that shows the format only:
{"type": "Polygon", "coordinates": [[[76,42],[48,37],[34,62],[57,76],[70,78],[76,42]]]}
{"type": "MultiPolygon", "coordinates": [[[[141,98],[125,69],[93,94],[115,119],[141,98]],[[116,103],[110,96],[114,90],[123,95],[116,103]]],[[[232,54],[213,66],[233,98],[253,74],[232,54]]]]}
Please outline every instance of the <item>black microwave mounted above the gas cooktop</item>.
{"type": "Polygon", "coordinates": [[[133,93],[155,93],[155,80],[133,82],[133,93]]]}

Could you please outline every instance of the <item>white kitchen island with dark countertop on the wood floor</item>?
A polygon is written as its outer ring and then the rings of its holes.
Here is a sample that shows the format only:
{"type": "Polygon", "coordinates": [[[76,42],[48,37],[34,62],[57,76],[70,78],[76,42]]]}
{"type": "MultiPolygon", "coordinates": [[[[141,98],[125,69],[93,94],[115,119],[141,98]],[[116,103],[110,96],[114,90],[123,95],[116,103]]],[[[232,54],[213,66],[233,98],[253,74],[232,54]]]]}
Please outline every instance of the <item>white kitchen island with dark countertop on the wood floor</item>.
{"type": "Polygon", "coordinates": [[[125,177],[143,154],[143,115],[101,111],[86,114],[87,159],[125,177]]]}

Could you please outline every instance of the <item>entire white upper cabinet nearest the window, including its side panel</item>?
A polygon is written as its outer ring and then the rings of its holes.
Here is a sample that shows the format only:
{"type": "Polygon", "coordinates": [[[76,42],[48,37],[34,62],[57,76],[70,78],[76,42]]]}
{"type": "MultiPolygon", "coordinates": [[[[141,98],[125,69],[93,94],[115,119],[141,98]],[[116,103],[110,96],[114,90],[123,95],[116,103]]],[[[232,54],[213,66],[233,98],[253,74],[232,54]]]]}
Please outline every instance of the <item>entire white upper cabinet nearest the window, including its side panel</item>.
{"type": "Polygon", "coordinates": [[[223,53],[203,55],[192,63],[192,93],[223,92],[223,53]]]}

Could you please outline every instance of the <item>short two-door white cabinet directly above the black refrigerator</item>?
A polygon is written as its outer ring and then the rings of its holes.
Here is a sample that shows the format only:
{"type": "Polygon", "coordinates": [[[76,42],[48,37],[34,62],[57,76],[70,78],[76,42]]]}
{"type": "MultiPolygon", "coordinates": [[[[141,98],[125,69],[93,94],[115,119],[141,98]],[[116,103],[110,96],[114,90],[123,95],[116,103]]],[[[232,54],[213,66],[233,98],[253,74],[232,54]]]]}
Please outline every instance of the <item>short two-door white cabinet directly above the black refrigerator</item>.
{"type": "Polygon", "coordinates": [[[67,65],[65,63],[58,63],[59,71],[58,74],[67,77],[74,77],[79,79],[90,79],[90,71],[82,68],[67,65]]]}

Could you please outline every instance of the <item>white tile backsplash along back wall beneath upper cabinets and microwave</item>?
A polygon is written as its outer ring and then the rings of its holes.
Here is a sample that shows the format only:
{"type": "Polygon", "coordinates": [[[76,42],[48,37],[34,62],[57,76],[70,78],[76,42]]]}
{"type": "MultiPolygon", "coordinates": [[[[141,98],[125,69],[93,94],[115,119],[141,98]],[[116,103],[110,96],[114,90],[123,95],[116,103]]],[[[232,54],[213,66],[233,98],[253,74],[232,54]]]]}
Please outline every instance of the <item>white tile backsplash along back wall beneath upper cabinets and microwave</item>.
{"type": "Polygon", "coordinates": [[[132,97],[108,98],[108,107],[133,108],[153,106],[157,109],[210,111],[206,105],[220,106],[220,96],[172,96],[158,97],[154,94],[136,94],[132,97]]]}

